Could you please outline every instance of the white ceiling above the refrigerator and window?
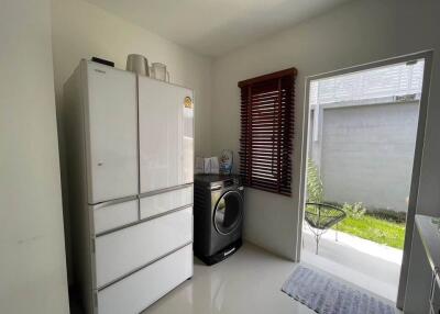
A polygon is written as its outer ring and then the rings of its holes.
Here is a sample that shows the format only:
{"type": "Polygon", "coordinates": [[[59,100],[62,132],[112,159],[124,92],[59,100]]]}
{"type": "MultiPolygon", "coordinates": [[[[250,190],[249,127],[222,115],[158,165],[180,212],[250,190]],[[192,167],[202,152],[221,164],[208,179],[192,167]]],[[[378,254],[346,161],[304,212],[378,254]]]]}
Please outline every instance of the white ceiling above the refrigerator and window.
{"type": "Polygon", "coordinates": [[[230,51],[349,0],[86,0],[206,56],[230,51]]]}

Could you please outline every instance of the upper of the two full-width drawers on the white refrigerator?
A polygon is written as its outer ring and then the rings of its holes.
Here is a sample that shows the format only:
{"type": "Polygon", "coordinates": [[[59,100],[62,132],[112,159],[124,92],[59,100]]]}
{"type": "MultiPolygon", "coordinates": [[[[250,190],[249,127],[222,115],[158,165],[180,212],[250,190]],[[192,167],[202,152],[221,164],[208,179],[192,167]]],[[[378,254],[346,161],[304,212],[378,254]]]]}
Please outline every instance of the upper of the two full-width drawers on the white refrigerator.
{"type": "Polygon", "coordinates": [[[97,288],[119,280],[191,242],[191,208],[98,236],[97,288]]]}

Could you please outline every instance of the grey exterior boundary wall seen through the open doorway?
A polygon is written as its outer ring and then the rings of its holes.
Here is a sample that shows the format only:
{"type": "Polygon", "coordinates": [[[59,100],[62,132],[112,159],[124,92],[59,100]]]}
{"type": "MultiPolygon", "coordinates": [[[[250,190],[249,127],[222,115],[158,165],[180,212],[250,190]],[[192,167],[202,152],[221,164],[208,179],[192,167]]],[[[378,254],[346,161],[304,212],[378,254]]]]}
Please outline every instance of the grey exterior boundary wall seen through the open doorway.
{"type": "Polygon", "coordinates": [[[311,141],[324,201],[406,212],[419,103],[333,106],[311,141]]]}

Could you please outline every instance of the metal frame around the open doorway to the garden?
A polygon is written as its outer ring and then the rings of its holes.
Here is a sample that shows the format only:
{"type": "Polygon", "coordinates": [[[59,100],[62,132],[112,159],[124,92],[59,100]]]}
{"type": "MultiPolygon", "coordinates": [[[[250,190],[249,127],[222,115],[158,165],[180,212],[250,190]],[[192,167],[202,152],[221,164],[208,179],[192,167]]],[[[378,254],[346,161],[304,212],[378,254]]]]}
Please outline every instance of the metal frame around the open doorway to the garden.
{"type": "MultiPolygon", "coordinates": [[[[307,157],[308,157],[308,135],[309,135],[309,120],[310,120],[310,108],[309,108],[309,92],[310,82],[317,79],[323,79],[333,76],[345,75],[350,72],[356,72],[362,70],[367,70],[372,68],[389,66],[393,64],[400,64],[411,61],[414,59],[425,59],[424,67],[424,81],[421,88],[420,98],[420,109],[419,117],[417,124],[417,137],[416,147],[413,162],[413,175],[411,184],[408,201],[408,212],[406,222],[406,233],[405,233],[405,245],[404,245],[404,256],[402,261],[400,278],[397,293],[396,306],[403,309],[405,301],[406,284],[408,279],[409,269],[409,257],[411,251],[411,239],[414,233],[415,215],[417,213],[417,198],[419,190],[419,179],[420,179],[420,168],[424,155],[425,145],[425,131],[426,121],[428,115],[428,104],[429,104],[429,87],[431,80],[431,69],[432,69],[432,51],[424,51],[420,53],[404,55],[399,57],[392,57],[380,61],[367,63],[359,66],[348,67],[334,71],[329,71],[320,75],[306,77],[305,86],[305,103],[302,112],[302,135],[301,135],[301,157],[300,157],[300,181],[299,181],[299,198],[298,198],[298,225],[296,239],[297,244],[302,243],[302,223],[304,223],[304,209],[306,204],[306,182],[307,182],[307,157]]],[[[301,245],[296,245],[295,260],[300,261],[301,258],[301,245]]]]}

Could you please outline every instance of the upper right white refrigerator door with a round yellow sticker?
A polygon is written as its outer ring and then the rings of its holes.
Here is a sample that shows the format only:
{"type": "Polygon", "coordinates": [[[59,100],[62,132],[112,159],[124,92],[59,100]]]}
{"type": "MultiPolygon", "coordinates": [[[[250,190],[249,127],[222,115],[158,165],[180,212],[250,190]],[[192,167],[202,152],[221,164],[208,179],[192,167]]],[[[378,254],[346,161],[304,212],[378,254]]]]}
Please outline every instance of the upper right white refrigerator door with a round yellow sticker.
{"type": "Polygon", "coordinates": [[[193,91],[138,79],[141,193],[193,182],[193,91]]]}

